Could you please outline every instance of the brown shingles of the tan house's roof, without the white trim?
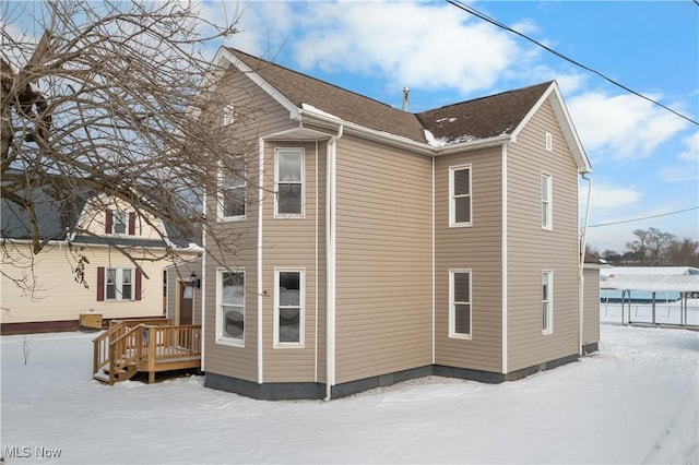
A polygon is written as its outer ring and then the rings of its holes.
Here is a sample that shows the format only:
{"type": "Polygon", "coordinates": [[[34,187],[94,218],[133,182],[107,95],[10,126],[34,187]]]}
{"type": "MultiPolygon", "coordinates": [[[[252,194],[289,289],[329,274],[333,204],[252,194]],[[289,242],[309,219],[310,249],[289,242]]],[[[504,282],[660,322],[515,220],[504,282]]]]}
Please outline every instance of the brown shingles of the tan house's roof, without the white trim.
{"type": "Polygon", "coordinates": [[[417,142],[427,142],[425,130],[445,143],[509,134],[552,84],[549,81],[411,114],[240,50],[227,50],[298,108],[311,105],[345,121],[417,142]]]}

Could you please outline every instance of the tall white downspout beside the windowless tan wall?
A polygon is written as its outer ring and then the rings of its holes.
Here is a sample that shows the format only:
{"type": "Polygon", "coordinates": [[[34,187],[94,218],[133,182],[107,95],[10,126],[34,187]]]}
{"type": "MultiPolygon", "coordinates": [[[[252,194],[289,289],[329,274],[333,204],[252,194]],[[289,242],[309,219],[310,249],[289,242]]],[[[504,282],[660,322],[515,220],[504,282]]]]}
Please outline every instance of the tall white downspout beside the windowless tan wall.
{"type": "Polygon", "coordinates": [[[328,141],[325,162],[325,402],[335,384],[335,155],[343,129],[340,126],[337,135],[328,141]]]}

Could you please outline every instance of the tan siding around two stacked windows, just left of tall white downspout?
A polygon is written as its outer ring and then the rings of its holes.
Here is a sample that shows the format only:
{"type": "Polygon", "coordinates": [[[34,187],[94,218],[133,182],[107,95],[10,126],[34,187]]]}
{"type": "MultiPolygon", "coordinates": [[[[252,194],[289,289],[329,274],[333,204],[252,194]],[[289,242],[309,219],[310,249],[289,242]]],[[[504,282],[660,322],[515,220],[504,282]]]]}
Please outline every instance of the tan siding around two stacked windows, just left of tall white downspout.
{"type": "MultiPolygon", "coordinates": [[[[318,314],[324,312],[325,269],[325,143],[315,142],[269,142],[265,144],[265,196],[263,215],[263,363],[264,382],[315,382],[318,380],[318,365],[324,366],[324,358],[317,353],[318,334],[324,326],[318,326],[318,314]],[[274,152],[275,148],[304,150],[304,217],[274,217],[274,152]],[[318,165],[316,160],[318,159],[318,165]],[[321,162],[322,159],[322,162],[321,162]],[[318,220],[316,220],[318,218],[318,220]],[[318,248],[316,245],[318,243],[318,248]],[[318,253],[318,264],[316,257],[318,253]],[[305,325],[304,347],[274,347],[274,278],[275,269],[303,269],[305,274],[305,301],[303,302],[305,325]]],[[[323,319],[324,324],[324,319],[323,319]]]]}

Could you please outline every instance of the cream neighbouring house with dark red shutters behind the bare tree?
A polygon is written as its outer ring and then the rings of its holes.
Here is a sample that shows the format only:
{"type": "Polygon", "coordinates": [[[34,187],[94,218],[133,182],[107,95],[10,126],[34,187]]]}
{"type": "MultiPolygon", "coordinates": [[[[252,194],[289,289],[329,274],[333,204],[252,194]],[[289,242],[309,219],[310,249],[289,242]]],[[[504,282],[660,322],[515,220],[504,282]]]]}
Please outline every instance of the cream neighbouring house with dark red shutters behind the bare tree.
{"type": "Polygon", "coordinates": [[[199,246],[104,193],[84,191],[70,201],[36,188],[32,196],[47,240],[38,254],[27,212],[2,200],[2,334],[74,331],[91,313],[100,320],[175,315],[166,308],[164,271],[174,259],[197,259],[199,246]]]}

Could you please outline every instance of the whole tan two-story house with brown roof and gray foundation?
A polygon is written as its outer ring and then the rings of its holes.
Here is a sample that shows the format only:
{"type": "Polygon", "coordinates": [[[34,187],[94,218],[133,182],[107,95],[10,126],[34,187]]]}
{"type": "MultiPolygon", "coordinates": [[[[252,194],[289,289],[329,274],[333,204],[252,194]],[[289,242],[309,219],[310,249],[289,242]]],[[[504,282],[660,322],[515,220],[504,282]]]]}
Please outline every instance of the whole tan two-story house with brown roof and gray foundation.
{"type": "Polygon", "coordinates": [[[596,348],[578,219],[590,163],[556,82],[411,114],[235,49],[215,63],[225,105],[209,117],[256,148],[208,194],[239,237],[235,255],[206,245],[208,386],[500,382],[596,348]]]}

